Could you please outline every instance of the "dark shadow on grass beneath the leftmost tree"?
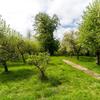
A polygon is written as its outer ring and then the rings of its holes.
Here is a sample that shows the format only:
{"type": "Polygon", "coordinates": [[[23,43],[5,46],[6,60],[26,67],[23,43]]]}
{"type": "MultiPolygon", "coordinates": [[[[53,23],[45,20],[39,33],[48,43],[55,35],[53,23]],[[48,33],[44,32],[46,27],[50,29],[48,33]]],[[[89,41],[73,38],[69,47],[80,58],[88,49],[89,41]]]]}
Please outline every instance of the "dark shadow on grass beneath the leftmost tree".
{"type": "Polygon", "coordinates": [[[21,81],[30,78],[32,75],[34,75],[34,72],[30,69],[20,69],[8,73],[2,72],[0,73],[0,82],[7,83],[21,81]]]}

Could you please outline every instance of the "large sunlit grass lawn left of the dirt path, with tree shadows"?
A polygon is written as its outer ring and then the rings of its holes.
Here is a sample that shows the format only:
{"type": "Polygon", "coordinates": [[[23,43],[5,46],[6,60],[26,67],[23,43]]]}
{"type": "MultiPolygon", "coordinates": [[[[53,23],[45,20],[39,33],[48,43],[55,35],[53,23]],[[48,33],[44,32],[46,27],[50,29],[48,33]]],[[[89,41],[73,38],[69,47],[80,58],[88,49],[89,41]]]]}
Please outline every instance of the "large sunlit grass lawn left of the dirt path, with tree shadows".
{"type": "Polygon", "coordinates": [[[0,100],[100,100],[100,81],[52,57],[40,81],[35,66],[10,64],[8,74],[0,68],[0,100]]]}

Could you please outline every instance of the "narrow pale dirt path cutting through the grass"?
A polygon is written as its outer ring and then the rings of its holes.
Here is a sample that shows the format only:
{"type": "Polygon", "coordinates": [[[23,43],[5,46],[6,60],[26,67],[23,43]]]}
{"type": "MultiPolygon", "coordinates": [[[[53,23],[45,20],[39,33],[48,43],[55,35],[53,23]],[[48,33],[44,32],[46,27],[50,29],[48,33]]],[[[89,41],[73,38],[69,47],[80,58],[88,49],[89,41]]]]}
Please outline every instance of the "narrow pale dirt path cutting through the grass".
{"type": "Polygon", "coordinates": [[[79,69],[81,71],[83,71],[84,73],[88,74],[88,75],[91,75],[92,77],[96,78],[96,79],[100,79],[100,74],[97,74],[81,65],[78,65],[78,64],[75,64],[69,60],[63,60],[63,62],[65,62],[66,64],[68,65],[71,65],[72,67],[76,68],[76,69],[79,69]]]}

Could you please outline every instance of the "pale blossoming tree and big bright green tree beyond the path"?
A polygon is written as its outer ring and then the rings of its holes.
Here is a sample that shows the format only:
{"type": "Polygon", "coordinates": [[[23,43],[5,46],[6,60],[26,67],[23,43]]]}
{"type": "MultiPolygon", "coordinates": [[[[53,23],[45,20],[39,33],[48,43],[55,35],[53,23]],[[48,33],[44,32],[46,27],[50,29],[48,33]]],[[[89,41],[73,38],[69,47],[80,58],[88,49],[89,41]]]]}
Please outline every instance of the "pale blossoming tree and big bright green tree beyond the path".
{"type": "Polygon", "coordinates": [[[67,32],[61,43],[62,50],[70,55],[92,55],[100,65],[100,0],[90,4],[79,24],[78,31],[67,32]]]}

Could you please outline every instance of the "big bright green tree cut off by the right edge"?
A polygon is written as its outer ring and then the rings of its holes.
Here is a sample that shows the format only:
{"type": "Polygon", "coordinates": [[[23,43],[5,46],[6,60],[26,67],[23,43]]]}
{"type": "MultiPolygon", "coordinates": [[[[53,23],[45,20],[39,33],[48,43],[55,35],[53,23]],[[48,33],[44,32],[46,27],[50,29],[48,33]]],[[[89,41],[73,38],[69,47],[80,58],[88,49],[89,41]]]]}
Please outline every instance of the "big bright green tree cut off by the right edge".
{"type": "Polygon", "coordinates": [[[100,0],[95,0],[87,7],[82,19],[80,42],[97,52],[97,63],[100,64],[100,0]]]}

